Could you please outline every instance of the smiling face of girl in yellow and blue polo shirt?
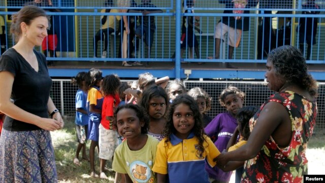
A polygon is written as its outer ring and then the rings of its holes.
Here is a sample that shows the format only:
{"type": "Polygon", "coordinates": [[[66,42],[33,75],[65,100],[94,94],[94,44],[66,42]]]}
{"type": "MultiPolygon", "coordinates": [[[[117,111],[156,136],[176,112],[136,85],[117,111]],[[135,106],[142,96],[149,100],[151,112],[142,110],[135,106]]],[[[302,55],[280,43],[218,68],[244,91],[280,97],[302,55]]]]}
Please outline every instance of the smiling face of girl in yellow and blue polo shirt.
{"type": "Polygon", "coordinates": [[[180,139],[186,139],[195,124],[193,111],[188,105],[181,103],[175,107],[173,123],[176,129],[175,135],[180,139]]]}

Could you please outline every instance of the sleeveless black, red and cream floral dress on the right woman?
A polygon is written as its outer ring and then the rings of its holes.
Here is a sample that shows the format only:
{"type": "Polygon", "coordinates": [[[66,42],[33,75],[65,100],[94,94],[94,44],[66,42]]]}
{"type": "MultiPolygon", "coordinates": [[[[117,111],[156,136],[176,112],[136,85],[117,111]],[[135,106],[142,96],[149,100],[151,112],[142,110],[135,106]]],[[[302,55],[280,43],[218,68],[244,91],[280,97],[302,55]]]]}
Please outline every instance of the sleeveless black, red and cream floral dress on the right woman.
{"type": "Polygon", "coordinates": [[[250,119],[250,131],[268,102],[286,108],[291,119],[291,140],[287,147],[280,148],[270,137],[257,156],[245,162],[242,182],[302,182],[303,175],[308,174],[306,149],[316,122],[317,104],[290,91],[272,95],[250,119]]]}

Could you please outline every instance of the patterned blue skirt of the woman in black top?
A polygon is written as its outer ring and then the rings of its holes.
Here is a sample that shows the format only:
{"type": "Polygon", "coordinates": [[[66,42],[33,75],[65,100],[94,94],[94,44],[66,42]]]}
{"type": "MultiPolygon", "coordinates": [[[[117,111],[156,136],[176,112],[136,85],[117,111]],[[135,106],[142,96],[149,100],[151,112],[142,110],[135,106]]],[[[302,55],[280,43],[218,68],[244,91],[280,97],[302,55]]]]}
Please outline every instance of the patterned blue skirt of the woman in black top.
{"type": "Polygon", "coordinates": [[[49,131],[2,130],[0,182],[57,182],[49,131]]]}

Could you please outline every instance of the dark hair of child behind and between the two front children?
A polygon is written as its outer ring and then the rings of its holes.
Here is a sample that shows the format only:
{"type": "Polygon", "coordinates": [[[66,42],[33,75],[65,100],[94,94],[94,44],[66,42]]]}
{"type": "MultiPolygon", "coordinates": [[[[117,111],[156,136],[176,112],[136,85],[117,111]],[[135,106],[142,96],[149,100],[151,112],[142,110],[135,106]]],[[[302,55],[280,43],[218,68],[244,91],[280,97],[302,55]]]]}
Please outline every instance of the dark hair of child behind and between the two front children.
{"type": "Polygon", "coordinates": [[[167,111],[168,104],[169,104],[167,93],[164,88],[157,85],[152,85],[148,89],[144,90],[139,105],[143,107],[147,111],[147,114],[149,115],[149,101],[154,97],[163,97],[165,99],[166,111],[167,111]]]}

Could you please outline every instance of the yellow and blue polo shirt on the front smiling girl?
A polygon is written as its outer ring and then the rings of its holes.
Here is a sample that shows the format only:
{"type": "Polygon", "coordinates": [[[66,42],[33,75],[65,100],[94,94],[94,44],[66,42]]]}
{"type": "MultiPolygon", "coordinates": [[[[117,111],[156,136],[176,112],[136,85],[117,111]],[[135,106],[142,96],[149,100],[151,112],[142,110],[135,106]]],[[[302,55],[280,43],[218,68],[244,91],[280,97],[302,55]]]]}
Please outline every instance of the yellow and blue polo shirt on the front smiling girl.
{"type": "Polygon", "coordinates": [[[161,140],[157,147],[156,159],[152,171],[167,174],[170,182],[209,182],[205,163],[214,167],[213,161],[220,152],[211,139],[204,135],[204,153],[200,157],[199,140],[193,133],[187,139],[171,135],[171,140],[161,140]]]}

